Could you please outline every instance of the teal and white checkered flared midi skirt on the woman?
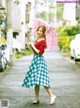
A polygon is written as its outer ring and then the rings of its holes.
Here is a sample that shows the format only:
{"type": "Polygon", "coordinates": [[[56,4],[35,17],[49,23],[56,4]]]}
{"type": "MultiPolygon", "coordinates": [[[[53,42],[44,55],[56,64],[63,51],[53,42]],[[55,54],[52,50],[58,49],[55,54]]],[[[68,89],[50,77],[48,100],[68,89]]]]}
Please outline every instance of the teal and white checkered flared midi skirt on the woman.
{"type": "Polygon", "coordinates": [[[34,54],[31,65],[25,75],[22,87],[50,87],[47,65],[43,55],[34,54]]]}

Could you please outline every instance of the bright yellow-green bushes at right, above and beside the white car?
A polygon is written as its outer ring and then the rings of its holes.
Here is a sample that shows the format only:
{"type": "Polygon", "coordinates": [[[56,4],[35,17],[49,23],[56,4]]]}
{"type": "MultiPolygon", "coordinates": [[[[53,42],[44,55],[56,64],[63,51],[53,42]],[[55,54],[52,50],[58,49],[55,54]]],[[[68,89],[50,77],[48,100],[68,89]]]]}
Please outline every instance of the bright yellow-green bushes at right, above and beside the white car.
{"type": "Polygon", "coordinates": [[[58,33],[58,45],[61,51],[69,52],[70,51],[70,42],[74,36],[80,33],[79,27],[76,26],[59,26],[56,29],[58,33]]]}

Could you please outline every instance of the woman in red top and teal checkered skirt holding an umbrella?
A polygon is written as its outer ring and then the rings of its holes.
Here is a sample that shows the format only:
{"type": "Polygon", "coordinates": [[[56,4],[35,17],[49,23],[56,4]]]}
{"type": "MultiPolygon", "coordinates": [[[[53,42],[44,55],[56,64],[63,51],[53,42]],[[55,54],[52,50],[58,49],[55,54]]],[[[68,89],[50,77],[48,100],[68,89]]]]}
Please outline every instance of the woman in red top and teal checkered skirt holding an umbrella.
{"type": "Polygon", "coordinates": [[[50,104],[53,104],[56,98],[50,88],[47,65],[43,56],[44,50],[47,47],[45,32],[46,27],[44,25],[39,26],[36,31],[37,41],[29,43],[29,46],[34,51],[34,57],[22,84],[23,87],[35,87],[35,101],[33,104],[39,103],[40,86],[44,86],[48,92],[51,99],[50,104]]]}

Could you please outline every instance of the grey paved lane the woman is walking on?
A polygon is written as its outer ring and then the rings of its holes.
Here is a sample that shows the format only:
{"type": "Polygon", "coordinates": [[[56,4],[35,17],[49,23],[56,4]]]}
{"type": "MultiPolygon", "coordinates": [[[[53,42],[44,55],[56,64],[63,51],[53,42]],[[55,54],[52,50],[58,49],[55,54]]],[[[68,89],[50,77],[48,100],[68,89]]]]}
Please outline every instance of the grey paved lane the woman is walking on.
{"type": "Polygon", "coordinates": [[[80,108],[80,68],[59,52],[44,54],[51,82],[57,96],[53,105],[43,87],[40,89],[40,104],[33,105],[34,88],[22,88],[21,84],[33,55],[14,62],[13,67],[0,77],[0,100],[8,99],[9,108],[80,108]]]}

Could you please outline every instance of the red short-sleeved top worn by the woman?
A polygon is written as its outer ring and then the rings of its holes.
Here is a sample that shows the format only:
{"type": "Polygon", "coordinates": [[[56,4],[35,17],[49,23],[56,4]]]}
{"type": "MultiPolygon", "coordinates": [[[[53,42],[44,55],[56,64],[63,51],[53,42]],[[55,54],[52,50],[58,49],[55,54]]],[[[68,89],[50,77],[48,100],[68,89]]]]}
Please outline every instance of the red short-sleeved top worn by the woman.
{"type": "Polygon", "coordinates": [[[41,55],[44,53],[44,49],[46,47],[46,41],[45,40],[36,41],[34,43],[34,46],[39,50],[39,55],[41,55]]]}

